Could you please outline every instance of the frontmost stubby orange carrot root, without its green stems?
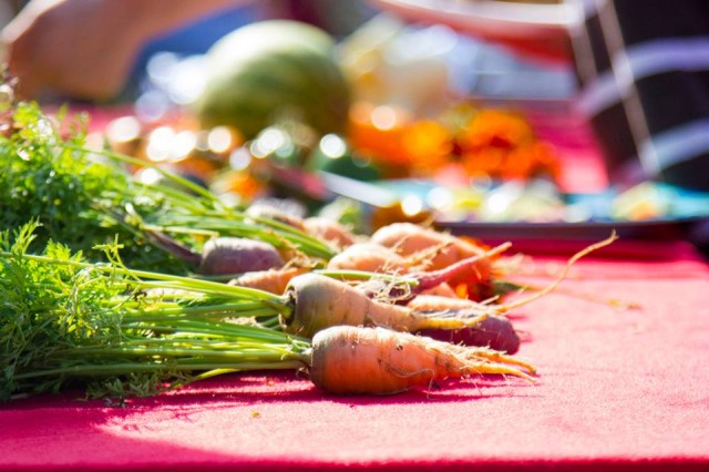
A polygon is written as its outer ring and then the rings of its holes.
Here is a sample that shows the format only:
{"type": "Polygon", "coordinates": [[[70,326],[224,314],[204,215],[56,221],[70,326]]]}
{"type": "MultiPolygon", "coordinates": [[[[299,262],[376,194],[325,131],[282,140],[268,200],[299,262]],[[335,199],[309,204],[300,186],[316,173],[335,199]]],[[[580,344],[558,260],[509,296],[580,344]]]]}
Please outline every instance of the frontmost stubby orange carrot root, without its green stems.
{"type": "Polygon", "coordinates": [[[534,373],[531,365],[500,352],[383,328],[338,326],[312,338],[310,380],[337,394],[398,393],[474,374],[534,381],[534,373]]]}

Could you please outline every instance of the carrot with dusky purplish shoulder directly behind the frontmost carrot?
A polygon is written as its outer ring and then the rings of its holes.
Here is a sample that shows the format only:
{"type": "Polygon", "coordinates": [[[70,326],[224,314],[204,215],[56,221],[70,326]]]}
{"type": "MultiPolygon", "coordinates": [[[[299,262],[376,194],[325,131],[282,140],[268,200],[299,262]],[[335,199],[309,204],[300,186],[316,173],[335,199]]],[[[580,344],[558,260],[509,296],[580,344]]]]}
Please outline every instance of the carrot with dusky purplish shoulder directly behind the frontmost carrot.
{"type": "Polygon", "coordinates": [[[286,295],[290,310],[281,314],[285,331],[311,337],[331,326],[383,326],[398,331],[460,329],[485,318],[482,310],[458,314],[424,314],[404,306],[373,300],[366,291],[320,274],[294,277],[286,295]]]}

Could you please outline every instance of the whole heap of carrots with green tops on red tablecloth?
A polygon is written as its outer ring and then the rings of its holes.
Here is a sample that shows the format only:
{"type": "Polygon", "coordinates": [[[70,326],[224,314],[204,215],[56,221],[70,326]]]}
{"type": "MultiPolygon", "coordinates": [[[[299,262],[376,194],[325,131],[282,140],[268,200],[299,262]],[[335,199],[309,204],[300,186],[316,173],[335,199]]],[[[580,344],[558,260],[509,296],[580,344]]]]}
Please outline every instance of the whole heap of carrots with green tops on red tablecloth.
{"type": "MultiPolygon", "coordinates": [[[[40,140],[44,152],[30,160],[51,161],[55,151],[92,166],[103,165],[96,156],[146,165],[111,150],[89,152],[75,138],[1,138],[27,152],[40,140]]],[[[25,157],[0,156],[9,172],[25,157]]],[[[86,242],[101,260],[63,244],[60,232],[38,247],[51,212],[0,234],[0,400],[78,386],[90,396],[155,394],[263,369],[306,370],[338,394],[395,393],[475,374],[533,380],[534,367],[513,356],[520,338],[506,314],[553,290],[565,270],[527,298],[500,302],[497,263],[510,244],[486,247],[404,223],[352,234],[266,205],[233,208],[162,172],[174,185],[80,195],[94,202],[80,217],[90,227],[100,214],[96,226],[182,259],[188,274],[131,267],[122,257],[127,242],[117,237],[86,242]],[[133,202],[145,199],[162,207],[136,212],[133,202]],[[444,340],[460,330],[471,335],[467,345],[444,340]]],[[[582,250],[567,268],[613,239],[582,250]]]]}

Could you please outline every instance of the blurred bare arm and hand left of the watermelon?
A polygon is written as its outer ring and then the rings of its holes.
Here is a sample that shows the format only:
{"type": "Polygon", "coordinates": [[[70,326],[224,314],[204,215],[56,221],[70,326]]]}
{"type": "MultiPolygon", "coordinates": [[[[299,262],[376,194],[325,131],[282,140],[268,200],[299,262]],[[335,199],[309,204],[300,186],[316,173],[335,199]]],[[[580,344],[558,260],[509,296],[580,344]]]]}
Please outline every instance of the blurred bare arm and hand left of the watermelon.
{"type": "Polygon", "coordinates": [[[105,100],[150,39],[254,0],[32,0],[2,30],[18,93],[105,100]]]}

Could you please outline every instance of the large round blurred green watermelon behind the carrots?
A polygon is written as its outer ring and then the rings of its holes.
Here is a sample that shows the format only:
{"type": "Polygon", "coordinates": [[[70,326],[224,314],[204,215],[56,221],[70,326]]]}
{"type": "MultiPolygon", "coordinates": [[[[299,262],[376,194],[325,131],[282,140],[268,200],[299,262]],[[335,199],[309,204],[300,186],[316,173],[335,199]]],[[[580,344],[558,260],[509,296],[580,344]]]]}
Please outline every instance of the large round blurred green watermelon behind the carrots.
{"type": "Polygon", "coordinates": [[[335,40],[314,25],[267,20],[242,27],[207,52],[195,102],[204,127],[230,125],[246,138],[287,116],[319,133],[346,130],[350,88],[335,40]]]}

